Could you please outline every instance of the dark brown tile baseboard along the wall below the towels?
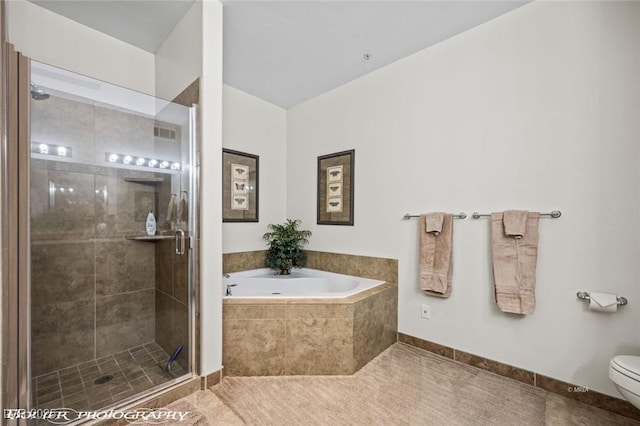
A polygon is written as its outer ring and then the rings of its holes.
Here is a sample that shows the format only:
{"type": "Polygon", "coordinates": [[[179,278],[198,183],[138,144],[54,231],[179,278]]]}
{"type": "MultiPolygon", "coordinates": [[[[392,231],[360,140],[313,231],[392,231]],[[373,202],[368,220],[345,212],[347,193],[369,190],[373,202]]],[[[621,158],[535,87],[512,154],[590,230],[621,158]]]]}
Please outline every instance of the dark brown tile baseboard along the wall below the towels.
{"type": "Polygon", "coordinates": [[[600,392],[595,392],[583,386],[566,383],[533,371],[503,364],[498,361],[493,361],[400,332],[398,333],[398,342],[424,349],[445,358],[480,368],[503,377],[508,377],[510,379],[526,383],[530,386],[544,389],[547,392],[552,392],[594,407],[602,408],[603,410],[611,411],[630,419],[640,420],[640,410],[635,408],[628,401],[600,392]]]}

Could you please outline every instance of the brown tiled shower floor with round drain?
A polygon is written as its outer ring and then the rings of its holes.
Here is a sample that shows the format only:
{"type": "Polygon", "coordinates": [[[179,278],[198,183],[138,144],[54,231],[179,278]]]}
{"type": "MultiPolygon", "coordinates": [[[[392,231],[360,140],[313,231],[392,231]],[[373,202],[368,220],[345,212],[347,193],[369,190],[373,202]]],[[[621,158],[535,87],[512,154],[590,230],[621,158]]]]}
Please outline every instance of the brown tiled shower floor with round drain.
{"type": "MultiPolygon", "coordinates": [[[[104,408],[173,379],[164,371],[168,359],[169,354],[154,342],[35,377],[35,408],[104,408]],[[111,379],[96,383],[104,376],[111,379]]],[[[177,363],[172,371],[176,376],[186,373],[177,363]]]]}

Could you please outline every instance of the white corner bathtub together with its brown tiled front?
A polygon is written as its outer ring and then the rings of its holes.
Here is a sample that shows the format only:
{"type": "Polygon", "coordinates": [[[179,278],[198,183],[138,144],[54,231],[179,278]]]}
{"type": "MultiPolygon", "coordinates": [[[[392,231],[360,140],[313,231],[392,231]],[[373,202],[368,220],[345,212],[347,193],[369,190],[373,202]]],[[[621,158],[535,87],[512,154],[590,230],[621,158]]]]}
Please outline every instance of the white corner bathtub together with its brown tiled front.
{"type": "Polygon", "coordinates": [[[225,375],[353,374],[397,340],[395,283],[307,268],[283,276],[270,269],[227,275],[225,375]]]}

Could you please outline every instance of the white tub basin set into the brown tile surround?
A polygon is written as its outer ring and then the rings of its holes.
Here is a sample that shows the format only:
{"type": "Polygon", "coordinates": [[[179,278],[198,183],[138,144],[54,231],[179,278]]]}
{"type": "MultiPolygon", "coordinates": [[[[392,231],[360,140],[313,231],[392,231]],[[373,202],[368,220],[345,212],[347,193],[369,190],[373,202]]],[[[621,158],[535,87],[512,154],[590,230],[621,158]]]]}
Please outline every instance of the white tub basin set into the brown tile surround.
{"type": "Polygon", "coordinates": [[[384,281],[352,277],[316,269],[294,269],[275,275],[268,268],[225,274],[223,299],[340,299],[384,284],[384,281]],[[231,296],[227,295],[227,286],[231,296]]]}

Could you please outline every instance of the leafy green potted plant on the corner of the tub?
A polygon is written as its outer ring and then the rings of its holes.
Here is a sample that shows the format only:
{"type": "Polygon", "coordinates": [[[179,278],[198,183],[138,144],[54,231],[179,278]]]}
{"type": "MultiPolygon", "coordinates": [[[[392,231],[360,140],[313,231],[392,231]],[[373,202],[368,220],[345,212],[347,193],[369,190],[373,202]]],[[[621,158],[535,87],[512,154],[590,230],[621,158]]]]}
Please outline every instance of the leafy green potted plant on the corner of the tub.
{"type": "Polygon", "coordinates": [[[301,221],[287,219],[283,224],[269,224],[262,238],[267,242],[265,266],[289,275],[291,268],[302,268],[307,264],[307,253],[302,247],[309,242],[311,231],[298,229],[301,221]]]}

